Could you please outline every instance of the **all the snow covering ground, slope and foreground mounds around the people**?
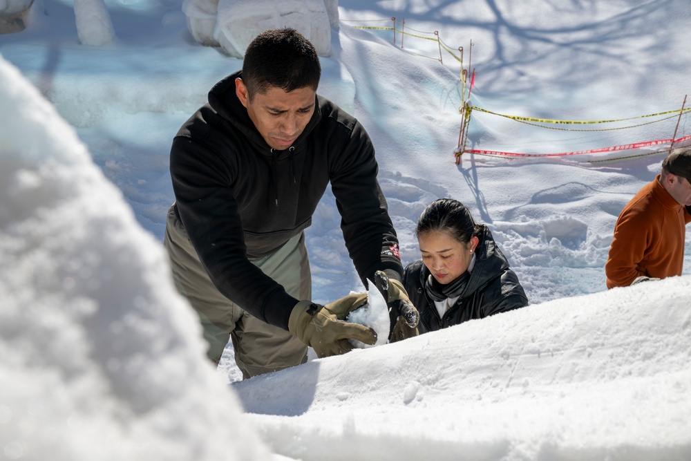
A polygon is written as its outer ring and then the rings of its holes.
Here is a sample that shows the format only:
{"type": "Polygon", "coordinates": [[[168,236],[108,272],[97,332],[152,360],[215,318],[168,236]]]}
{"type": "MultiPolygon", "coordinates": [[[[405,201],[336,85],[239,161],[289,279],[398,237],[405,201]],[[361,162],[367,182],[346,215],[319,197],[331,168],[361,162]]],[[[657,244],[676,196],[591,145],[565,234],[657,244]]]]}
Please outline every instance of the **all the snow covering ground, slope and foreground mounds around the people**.
{"type": "MultiPolygon", "coordinates": [[[[353,27],[396,17],[464,47],[477,108],[613,120],[681,109],[688,2],[341,1],[319,92],[375,143],[404,263],[422,209],[451,196],[531,305],[245,381],[231,347],[208,364],[162,250],[172,137],[241,61],[197,44],[181,0],[106,7],[102,46],[55,0],[0,36],[0,460],[691,458],[691,243],[683,276],[605,290],[616,216],[668,146],[456,165],[459,63],[353,27]]],[[[583,151],[677,120],[690,135],[678,112],[557,131],[473,110],[466,147],[583,151]]],[[[328,191],[307,231],[316,302],[364,290],[339,222],[328,191]]]]}

